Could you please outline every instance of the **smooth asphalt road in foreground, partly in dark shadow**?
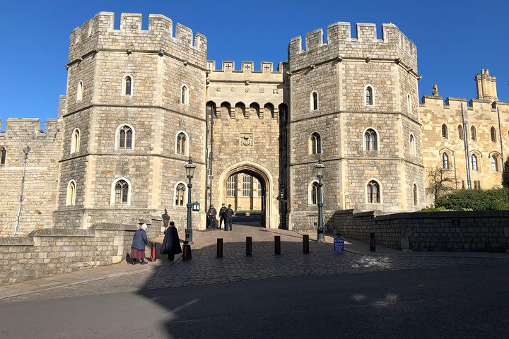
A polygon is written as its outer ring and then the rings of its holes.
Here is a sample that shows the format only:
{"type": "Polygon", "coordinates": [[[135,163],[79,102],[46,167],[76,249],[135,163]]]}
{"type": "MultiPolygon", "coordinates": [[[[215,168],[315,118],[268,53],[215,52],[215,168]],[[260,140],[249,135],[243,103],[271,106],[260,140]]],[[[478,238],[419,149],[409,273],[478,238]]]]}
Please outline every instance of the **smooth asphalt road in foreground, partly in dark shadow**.
{"type": "Polygon", "coordinates": [[[0,303],[0,338],[509,338],[509,265],[0,303]]]}

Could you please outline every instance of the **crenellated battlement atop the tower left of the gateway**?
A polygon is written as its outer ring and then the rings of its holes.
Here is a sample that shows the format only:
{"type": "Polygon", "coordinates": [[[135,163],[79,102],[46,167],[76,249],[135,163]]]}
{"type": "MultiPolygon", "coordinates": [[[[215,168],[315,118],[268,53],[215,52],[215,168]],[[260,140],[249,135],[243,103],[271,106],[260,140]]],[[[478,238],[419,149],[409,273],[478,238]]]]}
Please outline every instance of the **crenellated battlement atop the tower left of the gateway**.
{"type": "Polygon", "coordinates": [[[175,25],[170,18],[160,14],[148,16],[148,30],[141,29],[139,13],[122,13],[120,29],[115,30],[115,14],[100,12],[75,28],[69,37],[69,64],[90,52],[101,50],[133,52],[158,52],[169,54],[189,64],[205,67],[207,40],[185,25],[175,25]]]}

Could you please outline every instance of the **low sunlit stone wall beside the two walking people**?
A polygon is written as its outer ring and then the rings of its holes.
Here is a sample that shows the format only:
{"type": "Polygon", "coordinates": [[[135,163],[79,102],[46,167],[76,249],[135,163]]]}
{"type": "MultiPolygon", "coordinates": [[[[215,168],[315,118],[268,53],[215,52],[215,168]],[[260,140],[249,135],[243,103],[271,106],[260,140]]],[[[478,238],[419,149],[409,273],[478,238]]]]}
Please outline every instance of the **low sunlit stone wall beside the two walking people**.
{"type": "MultiPolygon", "coordinates": [[[[124,260],[131,249],[134,225],[93,225],[90,230],[40,229],[27,237],[0,237],[0,285],[124,260]]],[[[148,241],[160,222],[148,225],[148,241]]]]}

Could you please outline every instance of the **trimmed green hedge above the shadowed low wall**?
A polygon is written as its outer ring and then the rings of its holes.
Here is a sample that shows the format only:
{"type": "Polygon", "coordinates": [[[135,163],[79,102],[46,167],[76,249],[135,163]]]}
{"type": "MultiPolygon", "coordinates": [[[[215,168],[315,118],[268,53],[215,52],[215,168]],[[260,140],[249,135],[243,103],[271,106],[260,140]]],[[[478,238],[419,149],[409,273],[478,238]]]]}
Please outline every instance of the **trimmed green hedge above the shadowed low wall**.
{"type": "Polygon", "coordinates": [[[445,210],[509,210],[509,189],[462,189],[438,198],[445,210]]]}

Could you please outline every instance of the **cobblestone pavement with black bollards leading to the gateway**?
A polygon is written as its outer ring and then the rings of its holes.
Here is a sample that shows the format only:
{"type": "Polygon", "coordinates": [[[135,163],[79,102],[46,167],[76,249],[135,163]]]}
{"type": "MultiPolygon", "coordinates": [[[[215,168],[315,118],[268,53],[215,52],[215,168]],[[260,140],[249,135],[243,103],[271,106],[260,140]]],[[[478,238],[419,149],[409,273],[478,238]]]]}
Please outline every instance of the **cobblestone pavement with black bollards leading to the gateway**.
{"type": "MultiPolygon", "coordinates": [[[[348,252],[333,254],[331,244],[317,244],[312,241],[310,241],[310,254],[303,254],[302,236],[296,232],[242,225],[234,225],[232,232],[223,230],[194,232],[194,242],[192,261],[182,262],[179,258],[171,266],[158,266],[129,275],[12,297],[1,302],[78,297],[288,276],[337,275],[380,270],[509,263],[509,257],[375,256],[348,252]],[[274,235],[281,236],[280,256],[274,255],[274,235]],[[222,237],[224,242],[223,258],[216,258],[218,237],[222,237]],[[253,238],[252,258],[245,257],[245,237],[253,238]]],[[[160,258],[160,260],[166,259],[160,258]]]]}

